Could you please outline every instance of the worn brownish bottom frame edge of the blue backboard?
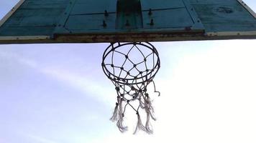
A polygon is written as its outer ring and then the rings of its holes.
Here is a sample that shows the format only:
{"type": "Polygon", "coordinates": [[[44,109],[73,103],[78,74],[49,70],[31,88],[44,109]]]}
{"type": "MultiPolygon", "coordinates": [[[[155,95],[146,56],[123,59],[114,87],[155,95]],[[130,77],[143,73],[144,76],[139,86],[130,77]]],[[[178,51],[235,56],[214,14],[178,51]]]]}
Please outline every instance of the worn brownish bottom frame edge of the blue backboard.
{"type": "MultiPolygon", "coordinates": [[[[134,35],[133,35],[134,36],[134,35]]],[[[227,39],[256,39],[256,31],[252,32],[209,32],[206,34],[198,34],[197,36],[175,36],[175,35],[157,35],[149,34],[147,38],[143,35],[131,37],[129,35],[111,34],[104,35],[61,35],[56,39],[51,39],[50,36],[0,36],[0,44],[70,44],[70,43],[110,43],[116,41],[134,42],[134,41],[205,41],[205,40],[227,40],[227,39]],[[17,39],[19,38],[19,39],[17,39]],[[76,39],[74,41],[74,39],[76,39]]]]}

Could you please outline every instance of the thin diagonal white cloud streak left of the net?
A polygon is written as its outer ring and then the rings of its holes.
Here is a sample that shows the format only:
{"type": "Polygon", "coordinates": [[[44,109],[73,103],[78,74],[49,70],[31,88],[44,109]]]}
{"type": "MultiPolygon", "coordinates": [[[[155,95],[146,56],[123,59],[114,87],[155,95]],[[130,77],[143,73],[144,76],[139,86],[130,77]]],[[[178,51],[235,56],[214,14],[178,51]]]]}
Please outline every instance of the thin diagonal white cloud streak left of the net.
{"type": "MultiPolygon", "coordinates": [[[[99,85],[99,81],[93,80],[91,77],[81,76],[75,73],[71,73],[70,71],[66,71],[65,69],[56,69],[52,66],[40,66],[40,63],[34,61],[32,59],[26,59],[18,54],[14,54],[11,52],[1,52],[1,58],[5,58],[8,60],[15,60],[19,64],[24,66],[28,66],[29,68],[35,69],[42,74],[51,77],[52,79],[56,79],[63,84],[67,84],[74,89],[78,89],[81,92],[84,92],[88,96],[93,96],[94,99],[98,99],[103,104],[111,104],[113,102],[113,94],[114,91],[109,88],[102,87],[99,85]]],[[[111,83],[110,83],[111,84],[111,83]]]]}

